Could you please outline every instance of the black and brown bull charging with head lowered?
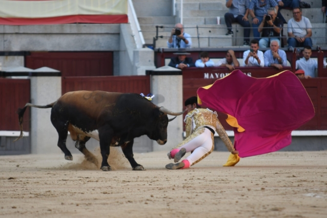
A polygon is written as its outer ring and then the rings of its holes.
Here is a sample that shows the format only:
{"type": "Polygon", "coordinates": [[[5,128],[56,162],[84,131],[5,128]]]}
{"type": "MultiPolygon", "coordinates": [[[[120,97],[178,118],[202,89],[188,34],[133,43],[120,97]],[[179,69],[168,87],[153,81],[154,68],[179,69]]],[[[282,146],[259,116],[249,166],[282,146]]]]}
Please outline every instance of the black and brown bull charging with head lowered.
{"type": "Polygon", "coordinates": [[[27,103],[24,108],[19,109],[18,139],[22,137],[22,117],[27,107],[52,108],[51,122],[59,135],[58,146],[67,160],[73,159],[66,147],[68,131],[76,141],[75,147],[96,165],[97,159],[86,149],[85,143],[90,138],[99,140],[103,171],[111,170],[107,161],[110,146],[121,146],[133,170],[144,170],[133,158],[134,138],[147,135],[163,145],[167,141],[167,126],[170,121],[167,114],[183,114],[158,107],[138,94],[68,92],[51,104],[40,106],[27,103]]]}

